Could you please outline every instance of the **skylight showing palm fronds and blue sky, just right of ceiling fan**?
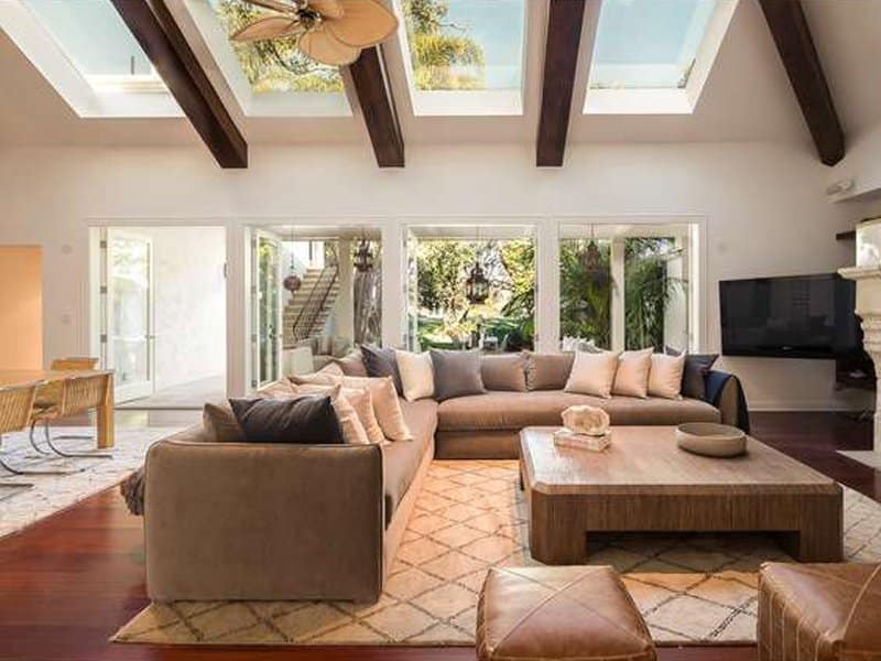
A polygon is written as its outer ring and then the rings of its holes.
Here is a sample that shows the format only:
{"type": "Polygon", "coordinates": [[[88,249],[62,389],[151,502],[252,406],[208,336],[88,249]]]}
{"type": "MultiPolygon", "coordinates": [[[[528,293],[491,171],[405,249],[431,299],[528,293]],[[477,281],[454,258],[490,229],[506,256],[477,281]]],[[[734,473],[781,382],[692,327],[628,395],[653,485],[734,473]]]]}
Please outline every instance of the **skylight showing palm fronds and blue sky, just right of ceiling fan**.
{"type": "Polygon", "coordinates": [[[520,115],[525,0],[400,0],[416,115],[520,115]]]}

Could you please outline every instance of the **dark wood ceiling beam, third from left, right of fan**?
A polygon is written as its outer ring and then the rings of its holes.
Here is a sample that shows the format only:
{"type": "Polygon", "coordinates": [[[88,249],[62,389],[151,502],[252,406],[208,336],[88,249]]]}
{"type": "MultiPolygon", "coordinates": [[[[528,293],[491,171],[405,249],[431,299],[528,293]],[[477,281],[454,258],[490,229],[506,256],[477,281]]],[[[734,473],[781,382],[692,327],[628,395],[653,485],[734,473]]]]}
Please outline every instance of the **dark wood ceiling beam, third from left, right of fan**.
{"type": "Polygon", "coordinates": [[[551,0],[535,164],[559,167],[566,153],[585,0],[551,0]]]}

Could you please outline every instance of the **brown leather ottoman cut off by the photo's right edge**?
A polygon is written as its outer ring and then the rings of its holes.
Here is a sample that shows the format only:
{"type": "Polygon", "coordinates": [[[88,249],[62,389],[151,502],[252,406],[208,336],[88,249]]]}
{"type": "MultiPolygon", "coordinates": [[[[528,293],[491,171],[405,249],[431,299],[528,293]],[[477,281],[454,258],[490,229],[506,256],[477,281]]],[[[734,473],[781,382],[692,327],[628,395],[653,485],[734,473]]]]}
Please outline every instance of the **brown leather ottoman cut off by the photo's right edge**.
{"type": "Polygon", "coordinates": [[[765,563],[760,661],[881,661],[881,565],[765,563]]]}

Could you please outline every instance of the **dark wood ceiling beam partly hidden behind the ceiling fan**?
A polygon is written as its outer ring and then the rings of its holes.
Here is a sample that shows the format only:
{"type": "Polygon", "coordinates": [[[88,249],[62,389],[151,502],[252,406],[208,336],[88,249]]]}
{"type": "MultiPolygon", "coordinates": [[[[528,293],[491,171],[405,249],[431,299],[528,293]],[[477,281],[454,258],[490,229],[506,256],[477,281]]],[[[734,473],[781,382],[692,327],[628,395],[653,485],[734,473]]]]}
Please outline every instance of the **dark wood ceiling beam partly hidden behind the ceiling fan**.
{"type": "Polygon", "coordinates": [[[404,166],[404,138],[398,121],[380,46],[365,48],[349,65],[358,105],[380,167],[404,166]]]}

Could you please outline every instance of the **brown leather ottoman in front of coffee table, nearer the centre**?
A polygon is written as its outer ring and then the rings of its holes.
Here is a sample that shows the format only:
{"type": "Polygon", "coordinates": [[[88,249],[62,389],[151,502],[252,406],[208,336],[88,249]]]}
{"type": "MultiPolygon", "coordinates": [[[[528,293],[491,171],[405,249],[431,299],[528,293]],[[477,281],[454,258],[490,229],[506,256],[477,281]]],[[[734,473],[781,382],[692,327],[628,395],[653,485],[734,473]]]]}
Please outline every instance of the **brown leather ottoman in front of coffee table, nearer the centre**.
{"type": "Polygon", "coordinates": [[[654,643],[606,566],[490,570],[477,611],[481,661],[654,661],[654,643]]]}

